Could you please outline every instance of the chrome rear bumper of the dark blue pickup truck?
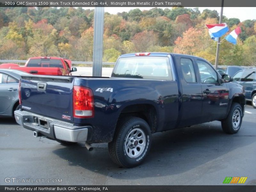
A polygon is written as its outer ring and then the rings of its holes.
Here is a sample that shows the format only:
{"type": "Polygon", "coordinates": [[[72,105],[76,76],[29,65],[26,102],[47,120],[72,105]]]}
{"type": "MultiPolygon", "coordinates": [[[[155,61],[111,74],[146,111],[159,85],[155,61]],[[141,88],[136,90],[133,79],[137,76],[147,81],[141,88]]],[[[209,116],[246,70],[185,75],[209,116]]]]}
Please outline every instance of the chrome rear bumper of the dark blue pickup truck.
{"type": "Polygon", "coordinates": [[[91,126],[75,126],[72,123],[41,116],[28,111],[14,111],[15,120],[24,128],[39,132],[54,140],[70,142],[87,141],[91,126]]]}

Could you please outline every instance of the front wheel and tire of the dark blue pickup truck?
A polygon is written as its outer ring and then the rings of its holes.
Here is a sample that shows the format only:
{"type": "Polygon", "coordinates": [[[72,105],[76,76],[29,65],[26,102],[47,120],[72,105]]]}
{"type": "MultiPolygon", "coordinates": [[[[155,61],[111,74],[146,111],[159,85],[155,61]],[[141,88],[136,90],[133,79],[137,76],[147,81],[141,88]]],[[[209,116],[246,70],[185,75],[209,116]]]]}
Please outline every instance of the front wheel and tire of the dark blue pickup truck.
{"type": "Polygon", "coordinates": [[[232,104],[228,117],[221,121],[221,126],[225,133],[234,134],[239,131],[243,119],[242,111],[239,103],[232,104]]]}

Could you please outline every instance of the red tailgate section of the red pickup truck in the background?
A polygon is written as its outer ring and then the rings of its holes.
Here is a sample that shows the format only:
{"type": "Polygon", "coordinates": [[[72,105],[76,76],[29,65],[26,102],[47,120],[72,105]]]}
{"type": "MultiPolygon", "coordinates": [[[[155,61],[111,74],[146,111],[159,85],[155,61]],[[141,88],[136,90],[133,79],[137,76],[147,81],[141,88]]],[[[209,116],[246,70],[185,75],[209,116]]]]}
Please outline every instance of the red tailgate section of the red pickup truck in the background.
{"type": "Polygon", "coordinates": [[[11,67],[11,69],[25,71],[34,75],[58,75],[58,70],[62,73],[58,67],[11,67]]]}

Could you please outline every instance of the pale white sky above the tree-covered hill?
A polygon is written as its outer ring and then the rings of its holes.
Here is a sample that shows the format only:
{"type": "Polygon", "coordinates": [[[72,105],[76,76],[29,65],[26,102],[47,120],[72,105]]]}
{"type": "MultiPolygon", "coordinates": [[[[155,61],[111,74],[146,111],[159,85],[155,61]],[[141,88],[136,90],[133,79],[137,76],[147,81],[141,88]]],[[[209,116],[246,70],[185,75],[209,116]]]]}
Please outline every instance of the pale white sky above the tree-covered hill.
{"type": "MultiPolygon", "coordinates": [[[[254,1],[254,0],[253,0],[254,1]]],[[[153,7],[105,7],[105,12],[110,14],[116,14],[117,12],[129,12],[131,9],[139,8],[140,10],[149,10],[153,7]]],[[[161,9],[170,8],[170,7],[159,7],[161,9]]],[[[195,8],[195,7],[187,7],[195,8]]],[[[94,8],[92,8],[94,9],[94,8]]],[[[204,9],[216,10],[220,14],[220,7],[199,7],[200,12],[202,13],[204,9]]],[[[238,18],[241,22],[247,19],[256,20],[256,7],[224,7],[223,15],[229,18],[238,18]]]]}

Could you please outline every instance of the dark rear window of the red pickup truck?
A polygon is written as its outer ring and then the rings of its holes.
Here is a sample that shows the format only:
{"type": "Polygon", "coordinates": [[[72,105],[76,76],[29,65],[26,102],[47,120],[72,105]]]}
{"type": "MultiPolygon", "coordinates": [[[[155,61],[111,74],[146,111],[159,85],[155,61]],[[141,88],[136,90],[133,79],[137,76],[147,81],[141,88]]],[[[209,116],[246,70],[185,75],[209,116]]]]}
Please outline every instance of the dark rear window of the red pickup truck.
{"type": "Polygon", "coordinates": [[[60,67],[63,68],[59,59],[31,59],[27,67],[60,67]]]}

